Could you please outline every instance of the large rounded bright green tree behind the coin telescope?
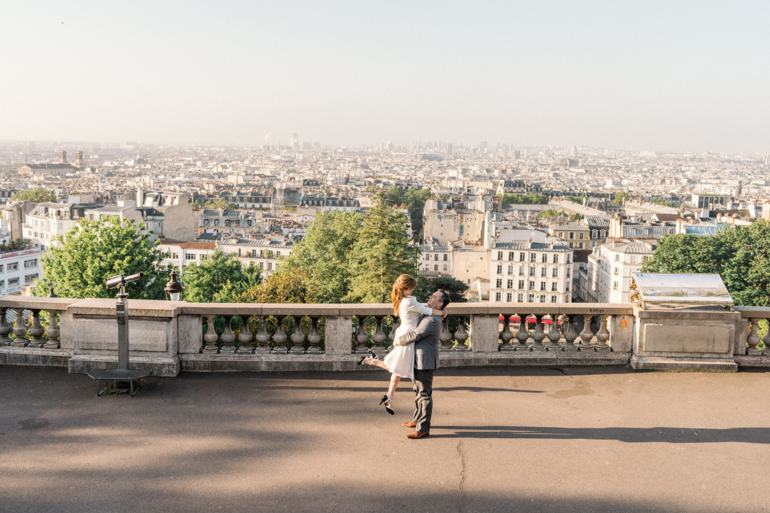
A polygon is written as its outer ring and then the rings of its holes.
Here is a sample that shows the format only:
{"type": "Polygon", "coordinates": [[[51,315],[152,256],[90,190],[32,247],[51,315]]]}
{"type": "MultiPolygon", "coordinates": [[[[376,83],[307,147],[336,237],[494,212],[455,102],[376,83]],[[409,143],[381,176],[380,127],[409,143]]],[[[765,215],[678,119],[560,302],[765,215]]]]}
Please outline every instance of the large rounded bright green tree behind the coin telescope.
{"type": "Polygon", "coordinates": [[[142,229],[144,225],[136,225],[133,219],[81,219],[65,241],[55,238],[62,248],[52,245],[49,254],[42,256],[43,275],[35,283],[35,294],[48,295],[53,286],[61,298],[115,298],[118,289],[107,289],[107,278],[143,272],[144,278],[126,287],[131,298],[165,299],[170,276],[161,265],[164,255],[159,241],[150,242],[149,233],[142,229]]]}

